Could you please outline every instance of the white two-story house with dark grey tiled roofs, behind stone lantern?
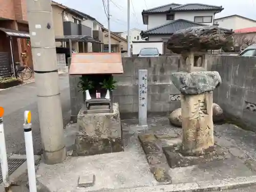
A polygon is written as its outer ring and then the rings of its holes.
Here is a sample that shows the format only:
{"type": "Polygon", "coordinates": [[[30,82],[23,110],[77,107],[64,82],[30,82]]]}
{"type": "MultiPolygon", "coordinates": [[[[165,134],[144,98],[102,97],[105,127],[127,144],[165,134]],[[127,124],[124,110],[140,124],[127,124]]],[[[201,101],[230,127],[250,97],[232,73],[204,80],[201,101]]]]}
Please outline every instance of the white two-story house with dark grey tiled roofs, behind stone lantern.
{"type": "Polygon", "coordinates": [[[141,32],[141,37],[150,41],[165,41],[178,30],[213,25],[215,14],[223,9],[214,5],[172,3],[143,10],[142,19],[147,30],[141,32]]]}

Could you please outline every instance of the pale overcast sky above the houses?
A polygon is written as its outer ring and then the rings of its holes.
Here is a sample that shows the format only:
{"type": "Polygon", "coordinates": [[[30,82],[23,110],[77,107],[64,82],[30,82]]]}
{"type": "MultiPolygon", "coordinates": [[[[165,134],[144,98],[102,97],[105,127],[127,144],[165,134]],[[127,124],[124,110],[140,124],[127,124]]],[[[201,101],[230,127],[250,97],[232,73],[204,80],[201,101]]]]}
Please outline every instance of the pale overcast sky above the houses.
{"type": "MultiPolygon", "coordinates": [[[[54,0],[55,1],[55,0],[54,0]]],[[[104,0],[105,2],[107,0],[104,0]]],[[[84,12],[95,17],[104,27],[108,27],[102,0],[56,0],[70,8],[84,12]]],[[[150,9],[170,3],[201,3],[208,5],[222,6],[224,10],[216,14],[216,18],[238,14],[256,20],[256,0],[131,0],[131,29],[138,28],[145,30],[146,26],[142,23],[141,12],[143,9],[150,9]]],[[[127,30],[127,0],[110,0],[111,31],[127,30]]]]}

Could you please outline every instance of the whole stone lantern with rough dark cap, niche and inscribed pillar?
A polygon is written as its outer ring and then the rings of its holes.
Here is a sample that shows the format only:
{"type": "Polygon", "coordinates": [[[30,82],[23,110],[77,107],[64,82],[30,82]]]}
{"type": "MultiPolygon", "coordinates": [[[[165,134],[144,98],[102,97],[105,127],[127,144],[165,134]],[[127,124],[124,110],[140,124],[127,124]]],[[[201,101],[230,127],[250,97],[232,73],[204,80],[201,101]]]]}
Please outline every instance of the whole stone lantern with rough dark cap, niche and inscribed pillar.
{"type": "Polygon", "coordinates": [[[172,81],[181,92],[181,152],[200,156],[214,148],[212,91],[221,84],[218,72],[207,72],[207,50],[231,48],[232,30],[217,26],[192,27],[177,31],[167,48],[182,56],[180,70],[172,81]]]}

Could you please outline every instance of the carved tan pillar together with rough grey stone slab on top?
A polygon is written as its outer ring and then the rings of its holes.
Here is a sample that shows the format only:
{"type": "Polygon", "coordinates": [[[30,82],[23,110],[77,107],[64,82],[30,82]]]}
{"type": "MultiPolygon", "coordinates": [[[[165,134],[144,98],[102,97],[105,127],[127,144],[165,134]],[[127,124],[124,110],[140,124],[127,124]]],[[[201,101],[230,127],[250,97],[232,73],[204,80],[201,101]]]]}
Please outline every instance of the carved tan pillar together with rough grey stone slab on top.
{"type": "Polygon", "coordinates": [[[183,155],[200,156],[214,149],[212,91],[221,83],[218,72],[178,72],[172,81],[181,92],[183,155]]]}

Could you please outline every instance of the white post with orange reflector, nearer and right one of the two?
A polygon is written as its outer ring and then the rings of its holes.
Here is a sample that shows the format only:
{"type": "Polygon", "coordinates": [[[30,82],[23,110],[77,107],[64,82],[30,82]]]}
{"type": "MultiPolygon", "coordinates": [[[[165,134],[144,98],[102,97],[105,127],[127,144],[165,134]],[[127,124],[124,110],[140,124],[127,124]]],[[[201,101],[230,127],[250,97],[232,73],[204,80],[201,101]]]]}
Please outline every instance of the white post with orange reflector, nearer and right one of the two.
{"type": "Polygon", "coordinates": [[[23,129],[25,135],[26,145],[26,156],[28,166],[28,177],[29,177],[29,191],[36,192],[36,178],[35,178],[35,161],[34,161],[34,148],[32,139],[32,124],[31,124],[31,112],[24,112],[23,129]]]}

